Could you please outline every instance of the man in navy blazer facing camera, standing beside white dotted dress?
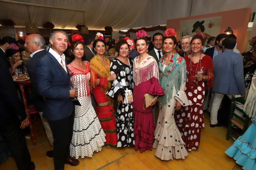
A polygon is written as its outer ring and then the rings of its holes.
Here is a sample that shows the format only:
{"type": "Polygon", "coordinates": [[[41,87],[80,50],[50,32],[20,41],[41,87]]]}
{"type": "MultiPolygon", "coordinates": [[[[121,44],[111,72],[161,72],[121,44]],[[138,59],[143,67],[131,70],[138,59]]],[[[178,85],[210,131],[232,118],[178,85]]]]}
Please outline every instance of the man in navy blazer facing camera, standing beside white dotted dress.
{"type": "Polygon", "coordinates": [[[65,66],[63,52],[68,47],[68,35],[55,31],[49,37],[51,48],[38,60],[36,68],[37,89],[45,99],[43,117],[53,133],[53,161],[55,170],[64,169],[64,164],[78,165],[70,158],[70,141],[73,135],[74,106],[72,98],[77,92],[71,89],[70,75],[65,66]]]}

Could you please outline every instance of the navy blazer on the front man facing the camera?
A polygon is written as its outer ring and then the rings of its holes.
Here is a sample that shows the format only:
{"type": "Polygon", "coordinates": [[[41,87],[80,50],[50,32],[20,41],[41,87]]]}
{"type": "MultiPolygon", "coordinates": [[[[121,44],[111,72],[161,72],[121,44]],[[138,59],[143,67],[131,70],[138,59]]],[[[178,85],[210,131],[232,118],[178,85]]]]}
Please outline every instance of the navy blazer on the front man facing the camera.
{"type": "Polygon", "coordinates": [[[69,97],[69,72],[65,72],[60,63],[49,52],[46,52],[38,60],[36,82],[39,95],[45,98],[44,118],[60,120],[72,114],[73,101],[69,97]]]}

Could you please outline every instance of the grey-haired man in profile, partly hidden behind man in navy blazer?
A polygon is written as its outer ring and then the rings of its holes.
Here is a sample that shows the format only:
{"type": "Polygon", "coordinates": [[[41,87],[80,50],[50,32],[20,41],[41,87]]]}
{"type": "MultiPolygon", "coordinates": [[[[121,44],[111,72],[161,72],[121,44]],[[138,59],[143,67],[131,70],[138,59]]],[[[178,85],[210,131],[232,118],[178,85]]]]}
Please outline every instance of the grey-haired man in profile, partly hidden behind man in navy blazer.
{"type": "MultiPolygon", "coordinates": [[[[31,59],[26,64],[27,72],[29,73],[32,87],[29,98],[31,99],[32,104],[36,107],[37,111],[39,112],[49,143],[51,144],[51,146],[53,146],[53,134],[51,132],[50,125],[48,121],[45,118],[43,118],[44,99],[42,98],[42,96],[38,94],[38,90],[36,89],[36,65],[38,60],[46,54],[46,50],[44,49],[45,40],[39,34],[29,34],[26,37],[24,46],[31,53],[31,59]]],[[[47,151],[46,155],[52,158],[53,150],[47,151]]]]}

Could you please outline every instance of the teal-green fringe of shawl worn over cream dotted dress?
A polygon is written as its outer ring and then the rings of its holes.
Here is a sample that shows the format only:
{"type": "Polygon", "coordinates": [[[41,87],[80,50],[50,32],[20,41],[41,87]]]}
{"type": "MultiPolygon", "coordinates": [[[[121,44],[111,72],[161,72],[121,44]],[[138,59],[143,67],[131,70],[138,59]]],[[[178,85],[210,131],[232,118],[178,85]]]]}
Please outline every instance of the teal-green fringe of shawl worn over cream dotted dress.
{"type": "MultiPolygon", "coordinates": [[[[172,74],[172,73],[171,73],[172,74]]],[[[162,106],[165,106],[167,103],[171,101],[171,99],[174,97],[173,94],[173,88],[175,88],[175,94],[178,93],[180,90],[180,86],[183,83],[186,83],[187,80],[187,73],[186,73],[186,62],[182,64],[182,66],[179,67],[179,70],[176,72],[176,74],[169,78],[169,76],[163,76],[160,78],[160,84],[162,88],[164,89],[165,95],[159,98],[159,102],[162,106]]]]}

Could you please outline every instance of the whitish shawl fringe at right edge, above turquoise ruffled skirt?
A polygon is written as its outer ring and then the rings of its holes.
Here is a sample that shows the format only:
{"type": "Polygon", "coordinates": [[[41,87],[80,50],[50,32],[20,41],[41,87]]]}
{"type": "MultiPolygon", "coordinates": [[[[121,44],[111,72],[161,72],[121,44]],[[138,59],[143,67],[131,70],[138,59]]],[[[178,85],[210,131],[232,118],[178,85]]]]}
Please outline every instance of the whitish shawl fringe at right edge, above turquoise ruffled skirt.
{"type": "MultiPolygon", "coordinates": [[[[256,79],[256,77],[254,77],[253,79],[256,79]]],[[[253,81],[251,83],[248,96],[244,103],[244,112],[249,118],[256,118],[256,87],[253,81]]]]}

